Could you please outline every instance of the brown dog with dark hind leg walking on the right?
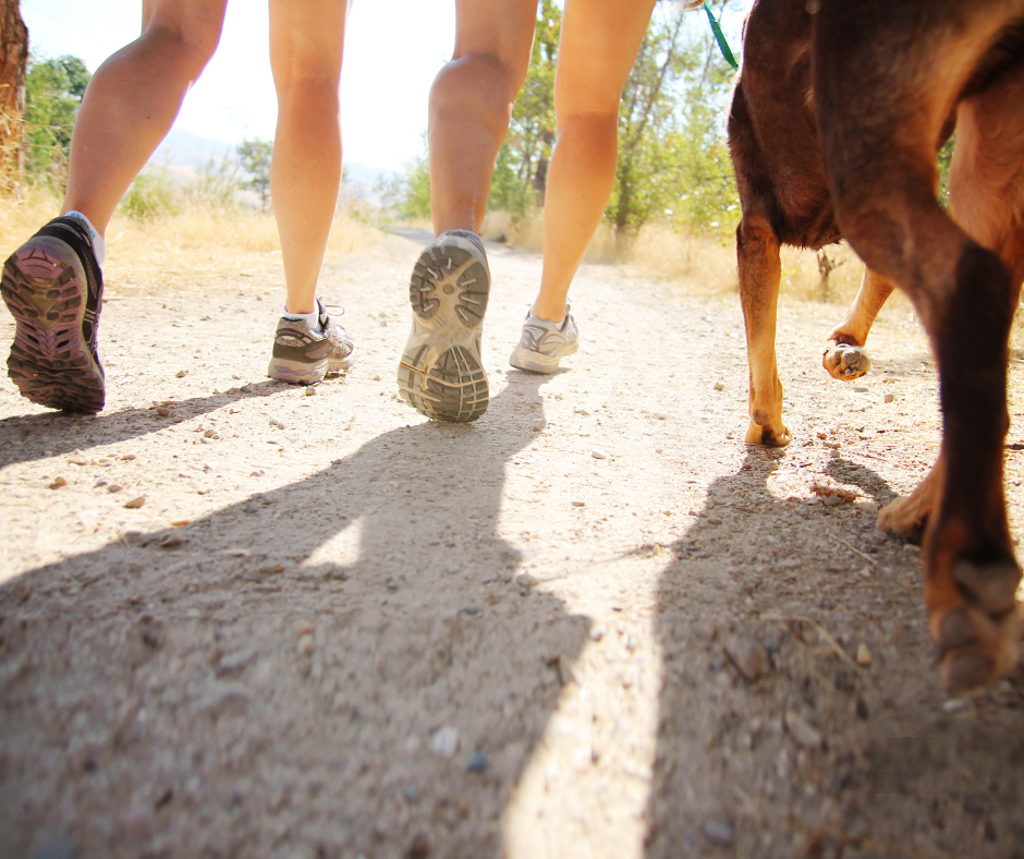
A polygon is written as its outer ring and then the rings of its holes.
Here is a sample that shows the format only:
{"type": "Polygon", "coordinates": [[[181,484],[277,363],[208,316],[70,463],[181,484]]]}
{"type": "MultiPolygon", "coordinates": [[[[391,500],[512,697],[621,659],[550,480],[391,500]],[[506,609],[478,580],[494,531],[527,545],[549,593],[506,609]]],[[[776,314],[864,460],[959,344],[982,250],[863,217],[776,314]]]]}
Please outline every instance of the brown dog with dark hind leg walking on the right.
{"type": "Polygon", "coordinates": [[[943,440],[880,524],[924,541],[928,625],[953,692],[1016,657],[1021,571],[1002,482],[1008,340],[1024,280],[1024,0],[757,0],[729,118],[751,367],[748,444],[790,441],[776,366],[780,243],[844,237],[867,265],[831,337],[832,375],[861,372],[899,286],[940,380],[943,440]],[[952,209],[936,153],[955,128],[952,209]]]}

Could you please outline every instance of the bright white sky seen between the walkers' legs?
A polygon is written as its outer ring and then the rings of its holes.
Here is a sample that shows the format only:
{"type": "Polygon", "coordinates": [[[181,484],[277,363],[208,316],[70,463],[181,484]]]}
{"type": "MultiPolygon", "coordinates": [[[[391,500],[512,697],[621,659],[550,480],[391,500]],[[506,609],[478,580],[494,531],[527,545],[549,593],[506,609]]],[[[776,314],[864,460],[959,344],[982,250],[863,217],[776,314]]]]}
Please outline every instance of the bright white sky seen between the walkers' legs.
{"type": "MultiPolygon", "coordinates": [[[[752,0],[742,0],[741,9],[752,0]]],[[[693,13],[699,15],[699,12],[693,13]]],[[[231,0],[220,47],[175,128],[239,143],[273,137],[277,105],[267,58],[266,0],[231,0]]],[[[22,0],[33,49],[81,57],[89,71],[138,36],[139,0],[22,0]]],[[[739,53],[739,22],[727,31],[739,53]]],[[[422,150],[427,95],[454,45],[453,0],[354,0],[342,72],[346,161],[391,170],[422,150]]]]}

